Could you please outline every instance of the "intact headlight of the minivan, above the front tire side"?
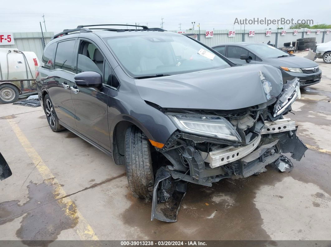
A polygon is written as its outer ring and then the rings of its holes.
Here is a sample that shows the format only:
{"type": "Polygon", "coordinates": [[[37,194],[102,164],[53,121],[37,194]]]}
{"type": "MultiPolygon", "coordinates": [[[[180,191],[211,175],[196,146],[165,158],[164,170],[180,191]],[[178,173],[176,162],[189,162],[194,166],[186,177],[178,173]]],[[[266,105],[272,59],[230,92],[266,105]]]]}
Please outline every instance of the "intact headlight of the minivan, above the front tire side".
{"type": "Polygon", "coordinates": [[[166,113],[177,129],[201,136],[241,141],[238,132],[224,117],[198,114],[166,113]]]}

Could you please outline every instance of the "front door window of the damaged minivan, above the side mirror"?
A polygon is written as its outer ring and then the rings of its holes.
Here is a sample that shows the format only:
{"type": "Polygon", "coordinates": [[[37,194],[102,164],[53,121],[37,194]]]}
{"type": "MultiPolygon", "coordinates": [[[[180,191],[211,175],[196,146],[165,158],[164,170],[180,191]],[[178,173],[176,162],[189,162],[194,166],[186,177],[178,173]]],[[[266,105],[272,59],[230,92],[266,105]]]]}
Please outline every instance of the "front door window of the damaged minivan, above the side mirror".
{"type": "Polygon", "coordinates": [[[104,57],[93,44],[81,41],[77,57],[77,74],[85,71],[94,71],[102,75],[104,57]]]}

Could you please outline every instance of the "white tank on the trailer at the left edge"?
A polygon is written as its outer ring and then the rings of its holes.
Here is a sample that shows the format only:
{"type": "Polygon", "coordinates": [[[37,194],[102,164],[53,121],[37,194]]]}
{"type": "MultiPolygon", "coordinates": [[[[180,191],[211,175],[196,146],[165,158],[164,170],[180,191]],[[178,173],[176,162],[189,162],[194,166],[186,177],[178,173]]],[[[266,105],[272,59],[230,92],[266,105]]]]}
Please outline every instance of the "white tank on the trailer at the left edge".
{"type": "Polygon", "coordinates": [[[0,48],[0,80],[34,79],[38,64],[32,51],[0,48]]]}

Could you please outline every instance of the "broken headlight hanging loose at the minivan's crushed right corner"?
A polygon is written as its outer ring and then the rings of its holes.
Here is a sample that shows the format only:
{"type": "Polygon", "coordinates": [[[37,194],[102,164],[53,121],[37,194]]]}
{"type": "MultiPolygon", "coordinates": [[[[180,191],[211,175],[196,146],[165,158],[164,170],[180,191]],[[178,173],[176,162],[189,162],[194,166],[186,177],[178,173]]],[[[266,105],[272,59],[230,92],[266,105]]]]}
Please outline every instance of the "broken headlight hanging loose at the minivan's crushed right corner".
{"type": "Polygon", "coordinates": [[[286,109],[288,109],[295,99],[299,97],[301,98],[300,94],[300,80],[298,77],[295,77],[291,81],[287,81],[281,96],[278,98],[275,106],[274,106],[274,114],[273,116],[279,116],[282,114],[286,109]]]}

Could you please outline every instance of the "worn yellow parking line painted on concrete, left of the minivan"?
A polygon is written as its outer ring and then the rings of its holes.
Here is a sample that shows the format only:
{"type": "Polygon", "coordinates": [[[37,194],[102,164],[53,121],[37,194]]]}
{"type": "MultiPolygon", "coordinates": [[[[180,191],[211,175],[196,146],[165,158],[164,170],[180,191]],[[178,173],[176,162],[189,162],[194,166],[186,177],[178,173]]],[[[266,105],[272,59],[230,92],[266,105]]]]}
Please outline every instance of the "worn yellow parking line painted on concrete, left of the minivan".
{"type": "Polygon", "coordinates": [[[49,168],[45,165],[41,157],[38,155],[37,151],[32,147],[29,140],[23,134],[17,123],[12,119],[11,116],[7,117],[9,124],[11,125],[14,133],[16,134],[17,138],[21,142],[22,146],[24,147],[27,155],[33,161],[34,165],[38,169],[41,176],[45,179],[47,183],[54,187],[53,196],[57,200],[57,202],[64,206],[66,215],[69,216],[72,220],[75,220],[77,223],[74,230],[82,240],[98,240],[95,232],[93,231],[92,227],[87,223],[84,217],[76,208],[76,205],[73,201],[70,200],[69,197],[65,197],[67,194],[63,190],[60,183],[57,181],[55,176],[49,170],[49,168]],[[78,221],[78,222],[77,222],[78,221]]]}

